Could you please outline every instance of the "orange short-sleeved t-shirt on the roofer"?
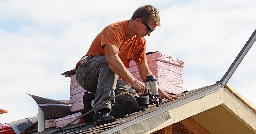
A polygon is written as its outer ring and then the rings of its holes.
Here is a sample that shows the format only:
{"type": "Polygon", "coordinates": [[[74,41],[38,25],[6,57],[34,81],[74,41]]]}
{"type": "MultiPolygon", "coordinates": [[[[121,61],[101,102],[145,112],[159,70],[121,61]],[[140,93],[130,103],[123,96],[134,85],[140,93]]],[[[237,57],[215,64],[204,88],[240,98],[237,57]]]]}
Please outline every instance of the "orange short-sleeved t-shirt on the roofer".
{"type": "MultiPolygon", "coordinates": [[[[136,35],[129,39],[127,36],[128,22],[129,20],[119,21],[105,27],[96,36],[86,55],[105,55],[103,46],[112,44],[119,48],[118,56],[123,63],[128,62],[131,58],[136,63],[147,62],[146,40],[144,37],[138,38],[136,35]]],[[[81,63],[78,62],[76,68],[80,65],[81,63]]]]}

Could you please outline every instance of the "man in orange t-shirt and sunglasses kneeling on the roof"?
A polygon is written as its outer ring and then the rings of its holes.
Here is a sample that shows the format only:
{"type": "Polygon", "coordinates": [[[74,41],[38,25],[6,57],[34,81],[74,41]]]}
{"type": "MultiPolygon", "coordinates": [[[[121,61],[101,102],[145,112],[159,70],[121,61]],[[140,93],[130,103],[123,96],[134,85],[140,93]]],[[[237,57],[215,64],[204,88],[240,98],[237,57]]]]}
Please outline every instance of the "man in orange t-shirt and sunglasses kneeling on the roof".
{"type": "MultiPolygon", "coordinates": [[[[150,36],[156,26],[161,26],[159,11],[151,5],[145,5],[139,7],[130,20],[110,24],[96,36],[85,55],[91,55],[92,59],[83,64],[78,62],[75,68],[76,80],[79,85],[92,93],[85,93],[83,97],[82,114],[92,110],[91,101],[93,99],[95,108],[111,97],[130,89],[130,86],[119,76],[129,82],[137,90],[137,93],[148,92],[145,80],[152,72],[147,64],[144,36],[150,36]],[[124,63],[131,58],[136,62],[144,83],[135,79],[126,69],[124,63]]],[[[168,100],[178,98],[166,93],[159,86],[158,90],[159,98],[168,100]]],[[[138,107],[135,98],[133,95],[127,94],[107,102],[83,119],[86,122],[91,122],[93,115],[94,125],[101,125],[115,121],[116,116],[136,111],[138,111],[138,107]]]]}

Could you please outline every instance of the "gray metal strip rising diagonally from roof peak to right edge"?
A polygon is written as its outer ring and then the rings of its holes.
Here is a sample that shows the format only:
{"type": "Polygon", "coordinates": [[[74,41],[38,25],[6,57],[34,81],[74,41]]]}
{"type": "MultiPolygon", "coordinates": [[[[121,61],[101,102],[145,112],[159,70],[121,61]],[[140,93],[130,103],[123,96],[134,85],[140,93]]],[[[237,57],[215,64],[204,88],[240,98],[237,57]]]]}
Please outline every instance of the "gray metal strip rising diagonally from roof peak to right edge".
{"type": "Polygon", "coordinates": [[[238,67],[238,65],[241,63],[241,61],[243,60],[244,56],[247,54],[247,52],[249,51],[249,49],[252,47],[252,44],[255,42],[256,40],[256,29],[254,30],[254,32],[252,33],[251,37],[249,38],[249,40],[245,43],[244,47],[242,48],[242,50],[240,51],[240,53],[236,56],[236,59],[234,60],[234,62],[231,64],[231,66],[229,67],[228,71],[225,73],[225,75],[221,78],[221,84],[223,87],[226,86],[226,84],[228,83],[228,80],[230,79],[230,77],[232,76],[232,74],[236,71],[236,68],[238,67]]]}

